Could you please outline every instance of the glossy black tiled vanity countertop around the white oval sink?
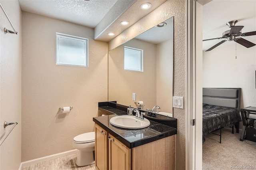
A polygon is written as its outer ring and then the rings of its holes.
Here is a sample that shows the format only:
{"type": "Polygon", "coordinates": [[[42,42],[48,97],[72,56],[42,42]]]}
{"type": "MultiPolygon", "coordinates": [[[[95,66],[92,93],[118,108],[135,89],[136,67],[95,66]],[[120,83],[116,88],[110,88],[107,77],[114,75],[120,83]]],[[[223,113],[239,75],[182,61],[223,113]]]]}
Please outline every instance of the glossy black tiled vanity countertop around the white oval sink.
{"type": "Polygon", "coordinates": [[[105,112],[109,111],[111,114],[114,112],[116,113],[113,115],[94,117],[93,121],[112,136],[114,136],[117,140],[125,144],[128,148],[134,148],[136,146],[177,134],[176,128],[164,125],[162,123],[157,123],[149,119],[148,120],[150,121],[150,126],[146,128],[125,129],[115,127],[110,124],[110,119],[118,115],[126,115],[127,113],[120,110],[118,111],[118,109],[108,106],[104,106],[104,108],[99,107],[99,109],[105,112]]]}

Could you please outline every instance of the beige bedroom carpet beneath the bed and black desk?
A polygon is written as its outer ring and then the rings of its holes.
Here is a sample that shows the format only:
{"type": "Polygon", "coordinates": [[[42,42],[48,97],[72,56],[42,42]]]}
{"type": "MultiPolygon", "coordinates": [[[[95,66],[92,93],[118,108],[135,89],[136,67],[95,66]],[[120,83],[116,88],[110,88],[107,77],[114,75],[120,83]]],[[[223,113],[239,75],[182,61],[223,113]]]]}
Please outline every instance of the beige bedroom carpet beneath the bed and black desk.
{"type": "Polygon", "coordinates": [[[256,170],[256,142],[240,141],[240,133],[231,132],[231,128],[222,129],[221,143],[220,136],[206,135],[206,141],[203,143],[203,170],[256,170]]]}

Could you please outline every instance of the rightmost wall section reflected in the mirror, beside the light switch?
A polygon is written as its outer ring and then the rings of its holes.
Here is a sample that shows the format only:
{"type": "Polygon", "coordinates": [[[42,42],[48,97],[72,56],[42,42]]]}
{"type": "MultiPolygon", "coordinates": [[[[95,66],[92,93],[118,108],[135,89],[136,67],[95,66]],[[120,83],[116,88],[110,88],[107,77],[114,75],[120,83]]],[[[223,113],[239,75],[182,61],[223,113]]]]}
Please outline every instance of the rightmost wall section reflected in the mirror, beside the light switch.
{"type": "Polygon", "coordinates": [[[156,45],[156,105],[172,113],[173,39],[156,45]]]}

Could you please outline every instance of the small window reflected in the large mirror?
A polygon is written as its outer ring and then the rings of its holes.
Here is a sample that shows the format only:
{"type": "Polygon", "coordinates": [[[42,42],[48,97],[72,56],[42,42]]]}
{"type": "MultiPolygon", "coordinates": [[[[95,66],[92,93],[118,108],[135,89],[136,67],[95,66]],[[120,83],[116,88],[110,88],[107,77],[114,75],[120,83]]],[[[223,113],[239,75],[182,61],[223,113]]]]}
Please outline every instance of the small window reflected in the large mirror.
{"type": "Polygon", "coordinates": [[[143,72],[143,49],[124,47],[124,70],[143,72]]]}

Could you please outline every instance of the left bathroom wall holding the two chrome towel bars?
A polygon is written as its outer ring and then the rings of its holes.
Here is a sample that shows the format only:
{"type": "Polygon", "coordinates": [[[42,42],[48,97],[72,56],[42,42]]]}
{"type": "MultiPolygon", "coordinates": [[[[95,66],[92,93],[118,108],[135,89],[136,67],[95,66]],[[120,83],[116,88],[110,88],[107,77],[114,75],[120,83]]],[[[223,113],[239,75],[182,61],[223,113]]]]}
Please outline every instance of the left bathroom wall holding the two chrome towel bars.
{"type": "Polygon", "coordinates": [[[4,28],[12,30],[9,21],[0,9],[0,136],[12,126],[4,129],[4,121],[18,122],[0,146],[0,169],[18,169],[21,162],[21,18],[18,0],[0,1],[8,14],[16,34],[4,34],[4,28]]]}

